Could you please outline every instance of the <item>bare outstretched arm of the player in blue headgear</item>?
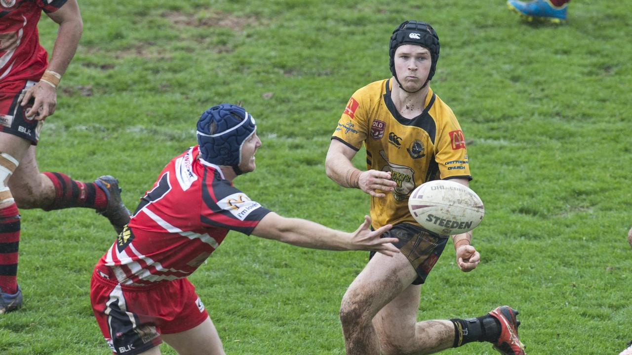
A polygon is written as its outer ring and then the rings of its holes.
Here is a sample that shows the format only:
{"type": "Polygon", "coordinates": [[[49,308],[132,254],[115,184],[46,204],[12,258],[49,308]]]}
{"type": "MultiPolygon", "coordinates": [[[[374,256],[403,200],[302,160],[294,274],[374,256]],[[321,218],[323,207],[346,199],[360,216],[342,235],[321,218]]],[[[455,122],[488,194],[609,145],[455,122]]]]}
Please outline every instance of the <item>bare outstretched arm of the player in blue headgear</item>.
{"type": "Polygon", "coordinates": [[[365,216],[364,222],[355,232],[343,232],[322,226],[315,222],[298,218],[286,218],[270,212],[260,220],[252,234],[258,237],[275,239],[283,243],[312,249],[326,250],[369,250],[387,256],[399,253],[393,244],[397,238],[381,238],[383,232],[391,229],[387,225],[370,230],[371,219],[365,216]]]}

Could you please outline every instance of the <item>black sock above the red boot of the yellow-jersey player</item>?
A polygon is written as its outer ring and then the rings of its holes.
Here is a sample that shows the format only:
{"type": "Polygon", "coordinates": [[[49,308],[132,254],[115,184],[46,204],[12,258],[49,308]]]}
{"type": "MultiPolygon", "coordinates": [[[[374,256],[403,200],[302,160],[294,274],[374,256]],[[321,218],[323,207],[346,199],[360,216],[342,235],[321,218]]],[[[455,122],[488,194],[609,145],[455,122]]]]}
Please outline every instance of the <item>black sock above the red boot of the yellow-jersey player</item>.
{"type": "Polygon", "coordinates": [[[450,321],[454,324],[452,347],[459,347],[468,342],[496,342],[501,336],[501,322],[490,315],[450,321]]]}

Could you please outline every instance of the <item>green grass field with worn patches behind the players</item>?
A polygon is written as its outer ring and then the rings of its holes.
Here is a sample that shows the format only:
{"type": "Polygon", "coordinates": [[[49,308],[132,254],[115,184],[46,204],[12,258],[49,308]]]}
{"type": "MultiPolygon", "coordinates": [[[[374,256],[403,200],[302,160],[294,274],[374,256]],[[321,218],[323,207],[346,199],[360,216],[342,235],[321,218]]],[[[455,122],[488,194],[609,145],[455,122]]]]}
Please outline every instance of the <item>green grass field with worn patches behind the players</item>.
{"type": "MultiPolygon", "coordinates": [[[[573,1],[566,25],[525,23],[503,1],[80,0],[78,52],[46,120],[42,171],[119,178],[133,209],[199,114],[243,102],[263,147],[235,185],[265,207],[351,231],[368,196],[326,178],[349,96],[390,76],[403,20],[441,39],[432,81],[466,139],[487,216],[482,262],[453,248],[423,287],[419,319],[520,311],[530,355],[617,354],[632,324],[632,3],[573,1]]],[[[45,16],[44,16],[45,17],[45,16]]],[[[52,49],[56,25],[40,21],[52,49]]],[[[365,157],[356,156],[363,167],[365,157]]],[[[0,317],[0,354],[108,354],[92,315],[94,263],[112,243],[92,210],[21,210],[23,310],[0,317]]],[[[337,318],[367,254],[229,234],[190,278],[228,354],[344,354],[337,318]]],[[[174,354],[162,346],[164,354],[174,354]]],[[[444,354],[495,354],[468,344],[444,354]]]]}

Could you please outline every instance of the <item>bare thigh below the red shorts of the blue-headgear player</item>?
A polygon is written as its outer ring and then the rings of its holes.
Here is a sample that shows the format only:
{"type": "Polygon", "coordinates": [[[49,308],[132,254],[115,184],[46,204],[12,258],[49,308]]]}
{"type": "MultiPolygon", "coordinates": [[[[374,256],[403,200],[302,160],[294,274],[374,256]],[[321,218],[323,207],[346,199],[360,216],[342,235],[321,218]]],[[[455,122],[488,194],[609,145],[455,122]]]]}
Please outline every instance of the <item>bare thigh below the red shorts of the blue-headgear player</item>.
{"type": "Polygon", "coordinates": [[[210,318],[206,318],[195,328],[175,334],[162,334],[161,337],[179,355],[225,355],[222,340],[210,318]]]}

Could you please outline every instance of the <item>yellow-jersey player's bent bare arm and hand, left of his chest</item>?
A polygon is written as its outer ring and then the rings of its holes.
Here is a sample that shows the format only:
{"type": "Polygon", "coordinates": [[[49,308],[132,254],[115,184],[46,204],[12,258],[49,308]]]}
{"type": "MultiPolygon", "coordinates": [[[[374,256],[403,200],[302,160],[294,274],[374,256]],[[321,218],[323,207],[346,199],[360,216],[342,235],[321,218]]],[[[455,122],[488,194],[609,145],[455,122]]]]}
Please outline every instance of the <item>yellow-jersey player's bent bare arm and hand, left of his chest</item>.
{"type": "Polygon", "coordinates": [[[375,197],[386,196],[380,191],[393,191],[397,183],[391,180],[391,172],[360,171],[351,163],[356,151],[341,141],[332,140],[325,159],[325,172],[330,179],[345,188],[359,188],[375,197]]]}

